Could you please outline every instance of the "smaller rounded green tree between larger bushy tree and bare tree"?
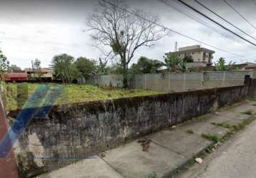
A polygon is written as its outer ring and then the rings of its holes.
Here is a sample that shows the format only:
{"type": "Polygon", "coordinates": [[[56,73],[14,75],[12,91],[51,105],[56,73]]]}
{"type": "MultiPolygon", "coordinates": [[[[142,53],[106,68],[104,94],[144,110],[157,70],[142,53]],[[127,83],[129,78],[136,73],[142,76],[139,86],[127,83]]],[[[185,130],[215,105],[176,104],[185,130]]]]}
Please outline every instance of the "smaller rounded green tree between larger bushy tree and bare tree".
{"type": "Polygon", "coordinates": [[[90,76],[95,75],[97,70],[95,61],[84,57],[77,58],[74,65],[84,78],[89,78],[90,76]]]}

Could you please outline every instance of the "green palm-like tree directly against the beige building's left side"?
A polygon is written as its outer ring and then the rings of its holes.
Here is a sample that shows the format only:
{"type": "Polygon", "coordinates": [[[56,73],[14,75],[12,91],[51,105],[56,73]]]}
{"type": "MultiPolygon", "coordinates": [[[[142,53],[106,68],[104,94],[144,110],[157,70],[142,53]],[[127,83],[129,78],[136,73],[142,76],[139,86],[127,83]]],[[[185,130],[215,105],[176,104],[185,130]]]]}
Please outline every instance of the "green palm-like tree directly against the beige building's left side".
{"type": "Polygon", "coordinates": [[[173,53],[166,53],[164,56],[164,66],[166,66],[168,69],[176,69],[180,68],[180,63],[182,60],[173,53]]]}

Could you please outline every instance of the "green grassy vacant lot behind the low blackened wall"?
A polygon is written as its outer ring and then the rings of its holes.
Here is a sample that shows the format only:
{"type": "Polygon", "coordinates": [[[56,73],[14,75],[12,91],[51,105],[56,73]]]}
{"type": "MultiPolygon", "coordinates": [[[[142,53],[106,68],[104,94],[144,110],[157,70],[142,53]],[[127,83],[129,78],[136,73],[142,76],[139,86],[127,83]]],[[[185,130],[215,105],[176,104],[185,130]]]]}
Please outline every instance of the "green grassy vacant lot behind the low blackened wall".
{"type": "MultiPolygon", "coordinates": [[[[6,110],[17,109],[17,83],[4,84],[6,96],[6,110]]],[[[39,84],[22,83],[24,90],[28,88],[29,96],[34,93],[39,84]]],[[[64,85],[64,90],[57,100],[56,104],[63,103],[81,103],[92,100],[107,100],[113,98],[129,98],[144,95],[156,95],[163,92],[149,90],[124,90],[121,88],[99,88],[93,85],[78,85],[78,84],[57,84],[64,85]]],[[[22,88],[22,90],[23,90],[22,88]]],[[[19,95],[19,100],[23,100],[24,95],[19,95]]],[[[23,102],[26,102],[24,97],[23,102]]]]}

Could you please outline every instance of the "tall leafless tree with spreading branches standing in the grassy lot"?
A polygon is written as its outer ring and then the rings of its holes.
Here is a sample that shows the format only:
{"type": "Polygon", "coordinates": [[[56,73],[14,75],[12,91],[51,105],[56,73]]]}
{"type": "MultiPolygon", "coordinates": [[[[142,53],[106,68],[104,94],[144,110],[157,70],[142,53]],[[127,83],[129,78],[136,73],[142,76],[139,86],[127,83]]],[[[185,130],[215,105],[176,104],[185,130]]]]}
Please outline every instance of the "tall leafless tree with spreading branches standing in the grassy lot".
{"type": "Polygon", "coordinates": [[[135,51],[142,46],[153,46],[152,42],[166,36],[167,31],[156,25],[159,22],[157,15],[135,9],[128,10],[121,0],[109,2],[110,4],[99,1],[94,13],[88,17],[87,26],[94,31],[94,41],[109,46],[119,56],[117,64],[122,67],[123,83],[127,88],[128,65],[135,51]]]}

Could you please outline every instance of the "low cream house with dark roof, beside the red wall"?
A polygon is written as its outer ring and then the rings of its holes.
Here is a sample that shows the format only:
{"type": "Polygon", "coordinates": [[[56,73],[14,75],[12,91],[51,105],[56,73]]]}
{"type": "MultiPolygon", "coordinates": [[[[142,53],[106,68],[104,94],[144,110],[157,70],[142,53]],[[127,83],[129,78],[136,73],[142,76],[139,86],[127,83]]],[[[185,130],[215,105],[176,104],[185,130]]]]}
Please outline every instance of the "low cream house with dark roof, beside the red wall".
{"type": "Polygon", "coordinates": [[[53,79],[53,75],[49,68],[40,68],[40,69],[26,68],[25,72],[29,76],[29,79],[32,79],[32,80],[35,79],[35,80],[50,82],[53,79]]]}

